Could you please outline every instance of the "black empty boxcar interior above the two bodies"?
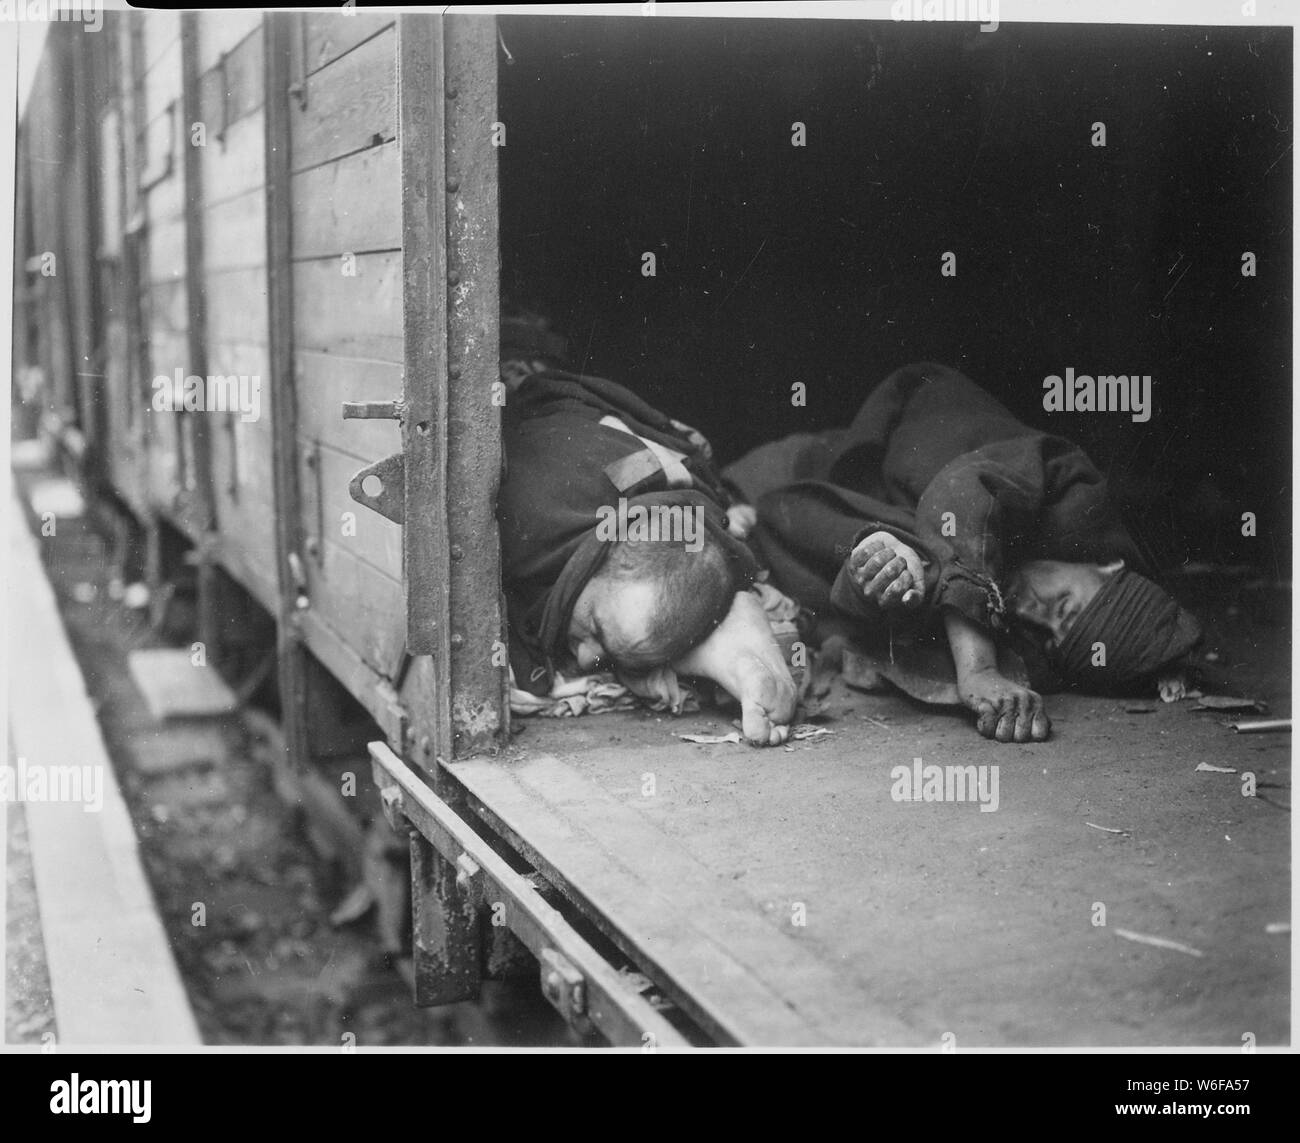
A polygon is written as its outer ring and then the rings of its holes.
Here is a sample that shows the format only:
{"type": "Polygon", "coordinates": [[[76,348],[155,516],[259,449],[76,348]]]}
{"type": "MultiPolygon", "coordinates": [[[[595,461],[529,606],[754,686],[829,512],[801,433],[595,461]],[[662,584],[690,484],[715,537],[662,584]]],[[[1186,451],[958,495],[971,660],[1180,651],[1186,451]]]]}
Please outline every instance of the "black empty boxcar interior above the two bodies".
{"type": "Polygon", "coordinates": [[[502,289],[575,365],[731,459],[944,361],[1078,440],[1158,563],[1284,573],[1286,29],[500,27],[502,289]],[[1066,367],[1150,373],[1150,421],[1049,416],[1066,367]],[[1273,541],[1243,542],[1245,510],[1273,541]]]}

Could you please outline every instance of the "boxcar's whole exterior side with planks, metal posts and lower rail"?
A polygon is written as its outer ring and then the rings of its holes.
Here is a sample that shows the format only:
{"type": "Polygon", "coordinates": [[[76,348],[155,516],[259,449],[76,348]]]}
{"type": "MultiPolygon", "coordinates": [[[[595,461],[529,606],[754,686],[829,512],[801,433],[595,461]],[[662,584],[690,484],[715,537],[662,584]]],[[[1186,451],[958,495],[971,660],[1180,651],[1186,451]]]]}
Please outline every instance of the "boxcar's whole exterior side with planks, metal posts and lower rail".
{"type": "Polygon", "coordinates": [[[420,1003],[523,960],[576,1025],[676,1039],[446,779],[508,735],[495,22],[107,13],[77,31],[51,27],[20,142],[16,359],[46,432],[139,528],[155,590],[198,564],[212,653],[246,614],[225,577],[274,616],[292,769],[333,748],[341,683],[381,757],[481,831],[448,843],[384,776],[394,824],[424,830],[420,1003]],[[185,410],[185,378],[217,376],[260,380],[256,415],[185,410]],[[497,925],[467,913],[467,879],[497,925]]]}

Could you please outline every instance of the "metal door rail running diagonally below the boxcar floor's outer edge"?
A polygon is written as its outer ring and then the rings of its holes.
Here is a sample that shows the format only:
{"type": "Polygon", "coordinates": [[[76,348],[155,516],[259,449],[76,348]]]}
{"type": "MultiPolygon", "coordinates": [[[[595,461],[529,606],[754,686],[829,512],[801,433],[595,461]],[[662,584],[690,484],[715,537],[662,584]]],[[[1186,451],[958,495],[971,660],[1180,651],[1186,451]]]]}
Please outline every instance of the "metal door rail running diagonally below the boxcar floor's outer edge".
{"type": "Polygon", "coordinates": [[[689,1040],[542,900],[528,878],[512,870],[386,742],[370,742],[369,750],[389,823],[396,828],[404,822],[455,865],[455,886],[467,912],[486,908],[503,915],[537,957],[543,995],[572,1026],[595,1026],[616,1045],[689,1047],[689,1040]]]}

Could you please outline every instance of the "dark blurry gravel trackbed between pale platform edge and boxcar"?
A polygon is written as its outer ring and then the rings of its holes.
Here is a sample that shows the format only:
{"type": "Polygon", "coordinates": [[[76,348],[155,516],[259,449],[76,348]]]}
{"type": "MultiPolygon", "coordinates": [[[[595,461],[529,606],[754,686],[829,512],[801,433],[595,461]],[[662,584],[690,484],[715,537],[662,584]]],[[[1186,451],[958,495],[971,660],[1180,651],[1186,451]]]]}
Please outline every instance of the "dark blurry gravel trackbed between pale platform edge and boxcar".
{"type": "MultiPolygon", "coordinates": [[[[57,536],[42,544],[205,1043],[332,1045],[348,1035],[363,1047],[572,1043],[536,980],[490,982],[478,1004],[415,1008],[377,939],[373,910],[330,925],[350,887],[277,797],[243,720],[151,715],[126,657],[165,642],[144,611],[109,598],[110,559],[88,520],[60,519],[57,536]]],[[[358,769],[369,767],[358,759],[358,769]]],[[[21,808],[9,810],[6,1038],[39,1043],[53,1014],[21,808]]]]}

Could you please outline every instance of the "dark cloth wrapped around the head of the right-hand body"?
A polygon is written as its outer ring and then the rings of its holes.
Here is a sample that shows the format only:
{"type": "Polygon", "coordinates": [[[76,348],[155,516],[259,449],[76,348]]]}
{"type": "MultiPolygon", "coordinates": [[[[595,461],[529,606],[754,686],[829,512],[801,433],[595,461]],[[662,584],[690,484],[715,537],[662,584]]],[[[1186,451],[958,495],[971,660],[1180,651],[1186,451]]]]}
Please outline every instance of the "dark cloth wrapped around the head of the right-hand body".
{"type": "Polygon", "coordinates": [[[1145,576],[1121,568],[1079,612],[1050,658],[1071,683],[1123,690],[1183,658],[1200,640],[1196,616],[1145,576]],[[1098,642],[1104,664],[1093,662],[1098,642]]]}

